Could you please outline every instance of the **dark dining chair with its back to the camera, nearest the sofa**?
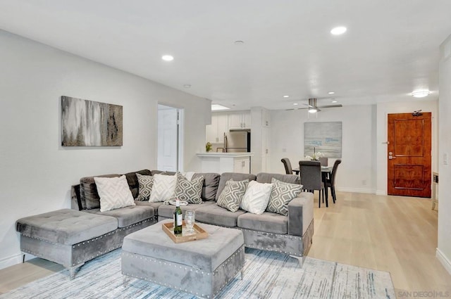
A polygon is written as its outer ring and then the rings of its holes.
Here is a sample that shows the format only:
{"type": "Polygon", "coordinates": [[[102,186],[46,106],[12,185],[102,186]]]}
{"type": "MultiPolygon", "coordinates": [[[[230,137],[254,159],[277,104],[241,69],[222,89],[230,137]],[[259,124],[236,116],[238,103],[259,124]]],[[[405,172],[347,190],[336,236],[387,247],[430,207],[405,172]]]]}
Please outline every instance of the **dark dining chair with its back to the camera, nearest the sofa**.
{"type": "MultiPolygon", "coordinates": [[[[324,183],[321,174],[321,163],[319,161],[299,161],[299,170],[301,175],[301,185],[303,190],[308,190],[314,193],[319,191],[319,203],[321,208],[321,193],[323,193],[324,202],[324,183]]],[[[328,207],[328,200],[326,198],[326,207],[328,207]]]]}

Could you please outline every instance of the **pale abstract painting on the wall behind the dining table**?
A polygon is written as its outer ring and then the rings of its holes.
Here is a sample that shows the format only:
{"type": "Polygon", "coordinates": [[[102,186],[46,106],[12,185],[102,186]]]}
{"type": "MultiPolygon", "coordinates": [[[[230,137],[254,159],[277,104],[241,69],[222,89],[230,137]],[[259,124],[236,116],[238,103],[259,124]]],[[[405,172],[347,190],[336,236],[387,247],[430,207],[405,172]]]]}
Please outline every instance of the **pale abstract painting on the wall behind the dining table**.
{"type": "Polygon", "coordinates": [[[304,155],[321,152],[327,158],[341,158],[342,122],[305,122],[304,155]]]}

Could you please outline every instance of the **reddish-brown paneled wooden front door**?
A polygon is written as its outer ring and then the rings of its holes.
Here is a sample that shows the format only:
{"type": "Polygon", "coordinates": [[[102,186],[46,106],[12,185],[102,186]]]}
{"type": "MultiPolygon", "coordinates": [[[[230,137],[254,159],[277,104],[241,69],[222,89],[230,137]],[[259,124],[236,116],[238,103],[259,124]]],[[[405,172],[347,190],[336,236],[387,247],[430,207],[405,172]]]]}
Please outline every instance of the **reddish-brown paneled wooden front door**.
{"type": "Polygon", "coordinates": [[[431,197],[431,113],[388,114],[388,194],[431,197]]]}

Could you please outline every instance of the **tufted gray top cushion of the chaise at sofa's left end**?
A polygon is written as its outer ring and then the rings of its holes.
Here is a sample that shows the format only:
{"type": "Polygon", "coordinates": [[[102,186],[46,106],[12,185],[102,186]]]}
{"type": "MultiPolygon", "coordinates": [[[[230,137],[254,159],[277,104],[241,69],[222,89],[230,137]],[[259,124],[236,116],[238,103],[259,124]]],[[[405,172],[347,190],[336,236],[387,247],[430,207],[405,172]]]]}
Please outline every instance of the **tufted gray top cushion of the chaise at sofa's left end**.
{"type": "Polygon", "coordinates": [[[87,241],[117,228],[118,220],[114,217],[70,209],[24,217],[16,222],[16,230],[24,236],[65,245],[87,241]]]}

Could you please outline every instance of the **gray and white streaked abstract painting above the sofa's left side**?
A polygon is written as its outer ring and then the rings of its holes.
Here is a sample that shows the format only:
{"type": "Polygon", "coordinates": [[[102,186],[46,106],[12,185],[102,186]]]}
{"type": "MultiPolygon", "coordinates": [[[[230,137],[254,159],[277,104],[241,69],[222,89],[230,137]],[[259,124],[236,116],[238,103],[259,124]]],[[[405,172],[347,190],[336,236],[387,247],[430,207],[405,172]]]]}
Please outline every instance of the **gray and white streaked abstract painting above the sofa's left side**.
{"type": "Polygon", "coordinates": [[[62,146],[122,146],[122,106],[61,96],[62,146]]]}

